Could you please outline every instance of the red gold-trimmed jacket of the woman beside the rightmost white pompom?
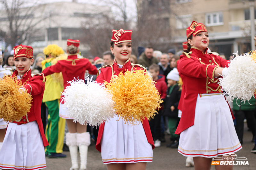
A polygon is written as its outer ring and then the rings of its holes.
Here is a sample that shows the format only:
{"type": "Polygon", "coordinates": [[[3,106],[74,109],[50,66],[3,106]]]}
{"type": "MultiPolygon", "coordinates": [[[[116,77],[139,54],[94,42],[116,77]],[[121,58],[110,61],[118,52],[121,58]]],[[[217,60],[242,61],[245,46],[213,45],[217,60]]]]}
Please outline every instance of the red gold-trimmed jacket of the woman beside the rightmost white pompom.
{"type": "MultiPolygon", "coordinates": [[[[228,67],[228,63],[229,60],[194,47],[189,53],[183,52],[180,55],[178,67],[185,89],[182,105],[186,107],[182,107],[182,116],[175,134],[180,135],[183,130],[194,125],[198,94],[221,92],[218,78],[214,78],[214,71],[217,67],[228,67]]],[[[234,119],[233,114],[232,117],[234,119]]]]}

